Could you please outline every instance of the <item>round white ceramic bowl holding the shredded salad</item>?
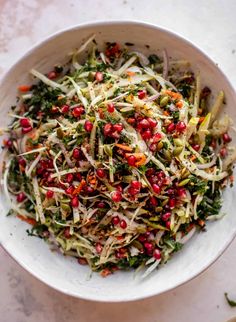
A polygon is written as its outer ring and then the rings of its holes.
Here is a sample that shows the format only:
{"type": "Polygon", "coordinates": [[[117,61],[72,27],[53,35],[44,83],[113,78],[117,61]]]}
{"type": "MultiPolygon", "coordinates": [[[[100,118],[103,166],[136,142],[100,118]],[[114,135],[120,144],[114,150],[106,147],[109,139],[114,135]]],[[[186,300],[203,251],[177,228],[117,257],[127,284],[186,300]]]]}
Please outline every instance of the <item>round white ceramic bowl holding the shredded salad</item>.
{"type": "MultiPolygon", "coordinates": [[[[223,89],[225,110],[236,122],[236,96],[226,76],[216,64],[190,42],[159,27],[139,22],[106,22],[80,25],[53,35],[31,49],[16,63],[0,84],[0,127],[8,123],[7,112],[15,103],[17,85],[30,82],[28,71],[34,67],[47,72],[63,61],[72,49],[80,46],[89,35],[96,33],[98,43],[132,42],[143,52],[154,53],[166,48],[175,58],[187,58],[193,69],[199,69],[203,83],[216,94],[223,89]],[[147,46],[150,48],[148,49],[147,46]]],[[[107,278],[94,273],[88,279],[88,268],[77,261],[49,250],[42,240],[28,237],[28,225],[14,217],[6,217],[7,204],[1,194],[0,241],[9,254],[26,270],[49,286],[76,297],[97,301],[129,301],[170,290],[205,270],[225,250],[236,233],[233,209],[235,188],[224,193],[223,212],[227,215],[207,225],[206,233],[199,233],[166,265],[149,278],[134,279],[133,272],[117,272],[107,278]]]]}

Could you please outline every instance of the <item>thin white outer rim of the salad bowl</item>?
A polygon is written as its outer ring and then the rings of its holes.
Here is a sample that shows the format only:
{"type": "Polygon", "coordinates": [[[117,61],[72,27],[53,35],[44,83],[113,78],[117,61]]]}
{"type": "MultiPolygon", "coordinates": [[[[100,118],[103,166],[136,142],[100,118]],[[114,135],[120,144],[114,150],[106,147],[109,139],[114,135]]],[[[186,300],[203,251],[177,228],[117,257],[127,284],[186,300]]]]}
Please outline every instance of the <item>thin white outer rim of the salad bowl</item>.
{"type": "MultiPolygon", "coordinates": [[[[176,33],[175,31],[172,31],[172,30],[170,30],[168,28],[156,25],[154,23],[149,23],[149,22],[144,22],[144,21],[141,21],[141,20],[134,20],[134,19],[132,19],[132,20],[126,20],[126,19],[125,20],[116,20],[115,19],[115,20],[106,20],[106,21],[103,21],[103,20],[88,21],[88,22],[85,22],[85,23],[75,24],[75,25],[68,26],[66,28],[62,28],[59,31],[57,31],[55,33],[52,33],[51,35],[43,38],[42,40],[37,41],[36,44],[33,45],[33,46],[30,46],[30,48],[23,55],[20,56],[20,58],[16,59],[16,61],[1,76],[1,78],[0,78],[0,86],[3,84],[4,80],[8,77],[8,75],[14,70],[14,68],[16,66],[20,65],[24,59],[26,59],[29,55],[33,54],[33,52],[35,50],[37,50],[41,46],[45,45],[46,43],[50,42],[51,40],[57,38],[58,36],[61,36],[63,34],[66,34],[67,32],[77,30],[77,29],[85,29],[85,28],[99,27],[99,26],[109,27],[109,26],[114,26],[114,25],[116,25],[116,26],[127,25],[127,26],[146,27],[146,28],[149,28],[149,29],[154,29],[154,30],[163,32],[163,33],[168,34],[169,36],[172,36],[174,38],[177,38],[178,40],[180,40],[183,43],[187,44],[188,46],[192,47],[195,51],[197,51],[199,54],[201,54],[208,61],[209,64],[214,65],[214,68],[217,68],[219,73],[223,77],[225,83],[227,84],[227,87],[232,91],[234,96],[236,96],[236,91],[235,91],[233,85],[231,84],[230,80],[228,79],[227,75],[221,70],[221,68],[218,66],[218,64],[215,63],[213,61],[213,59],[210,58],[208,56],[208,54],[206,54],[197,45],[192,43],[187,38],[181,36],[179,33],[176,33]]],[[[199,276],[200,274],[205,272],[211,265],[213,265],[216,262],[216,260],[230,246],[230,244],[233,242],[235,237],[236,237],[236,229],[235,229],[235,232],[232,234],[232,236],[227,241],[227,243],[225,243],[224,247],[221,248],[221,250],[218,252],[218,254],[214,258],[212,258],[209,263],[207,263],[204,266],[202,266],[200,270],[198,270],[197,272],[195,272],[192,275],[190,275],[190,277],[186,277],[181,282],[175,283],[173,286],[170,286],[170,287],[166,288],[164,291],[159,291],[159,292],[150,291],[150,292],[148,292],[147,294],[144,294],[144,295],[136,294],[136,295],[132,295],[132,296],[129,296],[129,297],[126,297],[126,296],[121,297],[119,295],[119,296],[114,296],[113,298],[110,298],[110,299],[100,298],[99,296],[96,296],[96,295],[93,296],[92,292],[88,293],[86,295],[84,295],[84,294],[81,295],[81,294],[79,294],[79,292],[74,292],[74,291],[70,291],[68,289],[60,288],[57,285],[55,285],[55,283],[46,280],[43,276],[38,276],[34,272],[34,270],[32,268],[28,267],[27,264],[25,264],[22,260],[17,258],[17,256],[15,254],[11,253],[8,250],[7,244],[4,243],[4,241],[0,240],[0,246],[2,246],[3,249],[7,252],[7,254],[9,254],[10,257],[17,264],[19,264],[24,270],[26,270],[31,275],[33,275],[36,279],[38,279],[39,281],[43,282],[44,284],[50,286],[51,288],[53,288],[56,291],[59,291],[59,292],[61,292],[63,294],[66,294],[66,295],[73,296],[75,298],[84,299],[84,300],[90,300],[90,301],[96,301],[96,302],[117,303],[117,302],[129,302],[129,301],[142,300],[142,299],[146,299],[146,298],[149,298],[149,297],[153,297],[155,295],[160,295],[160,294],[166,293],[166,292],[168,292],[170,290],[174,290],[177,287],[190,282],[191,280],[193,280],[194,278],[196,278],[197,276],[199,276]]]]}

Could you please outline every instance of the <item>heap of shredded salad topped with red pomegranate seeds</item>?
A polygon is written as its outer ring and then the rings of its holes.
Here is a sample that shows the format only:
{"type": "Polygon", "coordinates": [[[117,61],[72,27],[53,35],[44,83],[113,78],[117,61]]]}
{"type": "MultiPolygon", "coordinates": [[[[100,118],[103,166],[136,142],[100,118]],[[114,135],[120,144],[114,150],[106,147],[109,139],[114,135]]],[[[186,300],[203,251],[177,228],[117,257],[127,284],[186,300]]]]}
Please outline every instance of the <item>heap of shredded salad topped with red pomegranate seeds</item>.
{"type": "Polygon", "coordinates": [[[210,111],[211,91],[187,61],[117,43],[99,51],[94,39],[18,87],[3,190],[29,235],[102,276],[146,277],[221,217],[231,121],[219,118],[223,91],[210,111]]]}

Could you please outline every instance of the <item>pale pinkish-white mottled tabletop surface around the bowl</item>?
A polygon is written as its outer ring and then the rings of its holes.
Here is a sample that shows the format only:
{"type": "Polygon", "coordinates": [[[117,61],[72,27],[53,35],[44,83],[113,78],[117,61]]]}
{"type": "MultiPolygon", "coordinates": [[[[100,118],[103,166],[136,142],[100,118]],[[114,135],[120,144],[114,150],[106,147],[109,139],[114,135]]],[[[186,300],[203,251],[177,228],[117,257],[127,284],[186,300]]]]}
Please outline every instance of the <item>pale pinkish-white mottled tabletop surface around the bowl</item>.
{"type": "MultiPolygon", "coordinates": [[[[145,20],[172,29],[205,50],[236,87],[235,0],[0,0],[0,74],[30,46],[77,23],[145,20]]],[[[217,238],[217,236],[216,236],[217,238]]],[[[0,248],[0,321],[3,322],[223,322],[236,316],[236,240],[193,281],[143,301],[103,304],[60,294],[19,267],[0,248]]]]}

